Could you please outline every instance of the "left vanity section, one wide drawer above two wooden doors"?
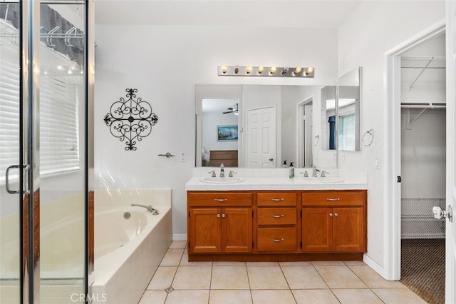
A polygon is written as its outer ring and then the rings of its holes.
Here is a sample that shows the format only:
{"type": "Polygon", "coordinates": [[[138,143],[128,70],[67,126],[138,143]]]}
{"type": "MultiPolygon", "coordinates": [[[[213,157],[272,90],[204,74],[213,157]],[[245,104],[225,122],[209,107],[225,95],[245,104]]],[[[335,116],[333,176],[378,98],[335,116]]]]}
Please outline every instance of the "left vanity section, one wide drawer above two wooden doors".
{"type": "Polygon", "coordinates": [[[189,192],[188,252],[252,252],[251,192],[189,192]]]}

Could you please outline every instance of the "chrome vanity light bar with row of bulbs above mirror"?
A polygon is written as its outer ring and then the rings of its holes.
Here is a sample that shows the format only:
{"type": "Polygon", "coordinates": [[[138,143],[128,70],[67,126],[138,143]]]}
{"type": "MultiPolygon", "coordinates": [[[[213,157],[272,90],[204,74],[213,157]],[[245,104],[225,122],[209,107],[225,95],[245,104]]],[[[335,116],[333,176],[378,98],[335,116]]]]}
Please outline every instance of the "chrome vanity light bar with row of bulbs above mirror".
{"type": "Polygon", "coordinates": [[[314,68],[296,66],[219,66],[219,76],[314,77],[314,68]]]}

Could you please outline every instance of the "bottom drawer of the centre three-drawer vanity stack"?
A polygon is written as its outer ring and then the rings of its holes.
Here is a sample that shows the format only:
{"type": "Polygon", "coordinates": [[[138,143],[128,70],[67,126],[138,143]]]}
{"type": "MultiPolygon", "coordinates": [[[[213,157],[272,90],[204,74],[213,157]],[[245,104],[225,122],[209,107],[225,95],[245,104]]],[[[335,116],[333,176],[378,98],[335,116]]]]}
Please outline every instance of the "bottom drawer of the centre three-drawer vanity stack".
{"type": "Polygon", "coordinates": [[[295,251],[296,228],[258,228],[258,251],[295,251]]]}

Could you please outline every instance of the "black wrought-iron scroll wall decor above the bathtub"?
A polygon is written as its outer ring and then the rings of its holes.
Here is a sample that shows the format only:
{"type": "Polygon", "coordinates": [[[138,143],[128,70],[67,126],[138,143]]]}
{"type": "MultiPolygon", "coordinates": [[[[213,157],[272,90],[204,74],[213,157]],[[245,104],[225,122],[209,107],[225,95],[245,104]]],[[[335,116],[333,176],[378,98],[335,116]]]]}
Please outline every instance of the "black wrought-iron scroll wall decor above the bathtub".
{"type": "Polygon", "coordinates": [[[136,98],[136,88],[127,88],[125,91],[127,99],[120,97],[119,101],[115,101],[104,121],[114,137],[125,141],[126,151],[136,151],[136,141],[142,141],[143,137],[150,134],[158,116],[152,113],[150,103],[136,98]]]}

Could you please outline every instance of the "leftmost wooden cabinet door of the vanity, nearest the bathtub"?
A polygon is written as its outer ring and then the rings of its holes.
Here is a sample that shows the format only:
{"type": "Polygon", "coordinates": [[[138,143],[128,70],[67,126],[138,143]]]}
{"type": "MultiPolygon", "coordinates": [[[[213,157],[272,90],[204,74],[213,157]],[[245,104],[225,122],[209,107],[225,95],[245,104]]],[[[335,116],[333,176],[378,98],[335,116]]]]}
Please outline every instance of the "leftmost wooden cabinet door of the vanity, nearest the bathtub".
{"type": "Polygon", "coordinates": [[[221,219],[219,208],[190,209],[189,253],[220,252],[221,219]]]}

